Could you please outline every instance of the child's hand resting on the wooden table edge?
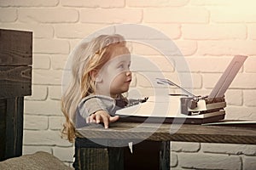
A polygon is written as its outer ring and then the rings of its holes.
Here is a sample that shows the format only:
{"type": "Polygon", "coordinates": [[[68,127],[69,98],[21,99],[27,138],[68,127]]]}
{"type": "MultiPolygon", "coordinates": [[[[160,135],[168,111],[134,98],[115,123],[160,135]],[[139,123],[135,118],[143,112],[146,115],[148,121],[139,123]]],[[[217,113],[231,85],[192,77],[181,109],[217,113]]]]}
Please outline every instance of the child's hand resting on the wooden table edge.
{"type": "Polygon", "coordinates": [[[108,128],[110,122],[116,122],[117,120],[119,120],[119,116],[110,116],[107,111],[96,111],[94,114],[87,117],[86,122],[103,122],[104,127],[108,128]]]}

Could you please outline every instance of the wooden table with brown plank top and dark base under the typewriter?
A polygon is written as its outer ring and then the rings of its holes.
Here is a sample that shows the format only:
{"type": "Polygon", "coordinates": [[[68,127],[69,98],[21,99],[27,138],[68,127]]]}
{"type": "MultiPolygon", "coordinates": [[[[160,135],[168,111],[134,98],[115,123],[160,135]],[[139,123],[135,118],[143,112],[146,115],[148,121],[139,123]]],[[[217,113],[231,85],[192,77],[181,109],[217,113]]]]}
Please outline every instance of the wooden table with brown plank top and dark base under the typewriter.
{"type": "Polygon", "coordinates": [[[77,131],[83,137],[76,140],[76,158],[79,161],[74,164],[81,169],[97,169],[97,166],[102,166],[101,169],[137,169],[132,166],[142,164],[143,156],[148,156],[147,162],[144,162],[147,163],[145,169],[155,164],[156,167],[150,169],[170,169],[170,141],[256,144],[255,127],[115,122],[108,129],[92,125],[77,131]],[[94,145],[91,141],[97,144],[94,145]],[[128,147],[114,147],[127,145],[131,141],[136,144],[131,156],[128,147]],[[137,144],[140,141],[143,142],[137,144]],[[81,154],[87,156],[87,161],[81,161],[81,154]],[[117,156],[119,159],[116,159],[117,156]]]}

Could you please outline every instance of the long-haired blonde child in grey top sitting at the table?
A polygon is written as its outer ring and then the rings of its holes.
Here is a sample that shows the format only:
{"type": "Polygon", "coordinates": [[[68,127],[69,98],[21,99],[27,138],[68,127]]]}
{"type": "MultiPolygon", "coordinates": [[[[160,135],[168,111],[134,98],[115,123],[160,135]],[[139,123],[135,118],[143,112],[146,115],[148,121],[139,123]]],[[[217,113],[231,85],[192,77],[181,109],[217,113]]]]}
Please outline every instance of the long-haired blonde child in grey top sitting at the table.
{"type": "Polygon", "coordinates": [[[125,39],[117,34],[81,42],[75,49],[72,81],[61,99],[66,117],[62,133],[69,141],[75,138],[76,127],[102,122],[108,128],[119,119],[114,113],[128,104],[122,94],[130,86],[130,64],[125,39]]]}

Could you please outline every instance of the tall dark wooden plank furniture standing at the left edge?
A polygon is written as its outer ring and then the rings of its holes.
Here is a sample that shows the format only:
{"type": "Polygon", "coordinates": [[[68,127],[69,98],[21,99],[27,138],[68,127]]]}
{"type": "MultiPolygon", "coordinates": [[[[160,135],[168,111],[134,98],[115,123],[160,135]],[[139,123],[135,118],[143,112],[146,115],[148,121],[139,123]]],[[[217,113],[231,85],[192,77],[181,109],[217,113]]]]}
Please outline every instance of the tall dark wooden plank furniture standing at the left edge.
{"type": "Polygon", "coordinates": [[[32,94],[32,32],[0,29],[0,161],[21,156],[23,99],[32,94]]]}

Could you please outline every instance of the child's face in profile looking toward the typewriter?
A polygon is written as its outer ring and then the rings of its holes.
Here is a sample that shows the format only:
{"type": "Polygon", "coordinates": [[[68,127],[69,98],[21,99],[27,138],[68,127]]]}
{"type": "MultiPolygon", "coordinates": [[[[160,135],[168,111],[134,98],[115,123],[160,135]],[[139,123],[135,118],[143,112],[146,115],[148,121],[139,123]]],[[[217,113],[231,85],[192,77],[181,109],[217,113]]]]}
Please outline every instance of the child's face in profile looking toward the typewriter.
{"type": "Polygon", "coordinates": [[[131,54],[128,48],[115,48],[111,59],[102,68],[102,85],[98,86],[100,91],[104,90],[103,94],[107,92],[105,95],[113,98],[127,92],[131,83],[130,65],[131,54]]]}

